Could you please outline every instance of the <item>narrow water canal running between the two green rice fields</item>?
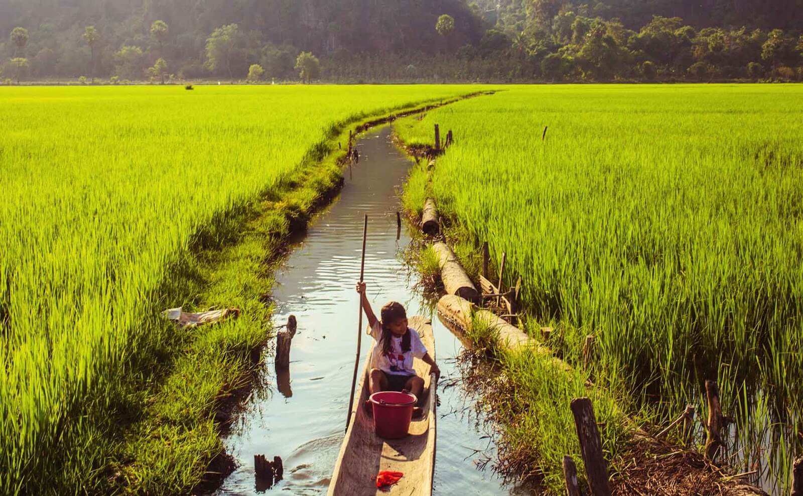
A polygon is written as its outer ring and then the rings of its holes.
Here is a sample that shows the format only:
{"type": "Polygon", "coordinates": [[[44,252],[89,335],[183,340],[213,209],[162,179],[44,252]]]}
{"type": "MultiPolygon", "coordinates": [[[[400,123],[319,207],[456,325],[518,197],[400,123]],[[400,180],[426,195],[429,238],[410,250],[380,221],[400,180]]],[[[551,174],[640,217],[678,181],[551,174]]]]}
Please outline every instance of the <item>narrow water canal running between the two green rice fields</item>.
{"type": "MultiPolygon", "coordinates": [[[[442,370],[434,494],[523,494],[492,474],[492,462],[485,470],[478,469],[487,457],[495,456],[495,447],[483,418],[475,412],[475,398],[460,380],[456,359],[462,345],[411,289],[416,280],[408,278],[397,256],[410,242],[405,228],[396,239],[396,212],[401,209],[397,188],[410,162],[391,143],[388,127],[369,131],[357,148],[360,163],[346,172],[340,197],[310,226],[276,274],[275,321],[286,322],[291,314],[298,319],[290,354],[291,392],[279,391],[272,360],[265,364],[263,390],[251,397],[224,439],[238,468],[215,494],[259,494],[255,453],[279,455],[284,461],[284,479],[269,491],[326,493],[349,405],[357,344],[354,284],[360,274],[365,213],[369,216],[365,280],[374,308],[378,312],[382,304],[396,300],[408,315],[428,315],[433,321],[442,370]]],[[[370,343],[370,337],[363,335],[361,370],[370,343]]]]}

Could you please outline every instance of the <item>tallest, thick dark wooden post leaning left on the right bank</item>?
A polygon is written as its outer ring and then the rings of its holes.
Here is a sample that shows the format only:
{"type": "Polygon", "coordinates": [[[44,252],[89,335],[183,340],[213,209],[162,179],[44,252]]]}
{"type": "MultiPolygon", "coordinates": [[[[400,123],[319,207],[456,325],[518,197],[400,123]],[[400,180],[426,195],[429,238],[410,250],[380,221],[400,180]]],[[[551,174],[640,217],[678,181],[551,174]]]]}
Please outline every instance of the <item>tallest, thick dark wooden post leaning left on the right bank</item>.
{"type": "Polygon", "coordinates": [[[575,398],[572,400],[571,408],[574,425],[577,427],[577,437],[580,440],[580,453],[585,464],[585,477],[589,479],[591,494],[610,496],[608,467],[605,458],[602,457],[602,441],[591,400],[586,397],[575,398]]]}

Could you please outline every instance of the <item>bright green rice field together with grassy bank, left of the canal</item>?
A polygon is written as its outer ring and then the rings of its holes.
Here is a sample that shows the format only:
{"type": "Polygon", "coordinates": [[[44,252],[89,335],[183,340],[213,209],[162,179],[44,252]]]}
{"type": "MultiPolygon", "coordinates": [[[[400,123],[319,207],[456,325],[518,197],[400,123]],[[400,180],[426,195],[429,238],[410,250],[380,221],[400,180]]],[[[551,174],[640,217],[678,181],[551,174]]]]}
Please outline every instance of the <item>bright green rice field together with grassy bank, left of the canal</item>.
{"type": "Polygon", "coordinates": [[[181,494],[225,468],[271,264],[336,191],[349,128],[471,91],[3,91],[0,492],[181,494]],[[179,331],[178,306],[241,313],[179,331]]]}

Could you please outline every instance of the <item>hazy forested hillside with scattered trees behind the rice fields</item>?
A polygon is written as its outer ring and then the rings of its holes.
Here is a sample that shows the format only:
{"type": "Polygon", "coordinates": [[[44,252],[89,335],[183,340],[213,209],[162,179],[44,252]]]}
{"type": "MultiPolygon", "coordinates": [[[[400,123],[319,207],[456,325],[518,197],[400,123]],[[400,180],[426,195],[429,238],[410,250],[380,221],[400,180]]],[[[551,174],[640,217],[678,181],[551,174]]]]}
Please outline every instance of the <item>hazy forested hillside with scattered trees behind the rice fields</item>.
{"type": "Polygon", "coordinates": [[[0,0],[7,82],[801,80],[801,30],[803,0],[0,0]]]}

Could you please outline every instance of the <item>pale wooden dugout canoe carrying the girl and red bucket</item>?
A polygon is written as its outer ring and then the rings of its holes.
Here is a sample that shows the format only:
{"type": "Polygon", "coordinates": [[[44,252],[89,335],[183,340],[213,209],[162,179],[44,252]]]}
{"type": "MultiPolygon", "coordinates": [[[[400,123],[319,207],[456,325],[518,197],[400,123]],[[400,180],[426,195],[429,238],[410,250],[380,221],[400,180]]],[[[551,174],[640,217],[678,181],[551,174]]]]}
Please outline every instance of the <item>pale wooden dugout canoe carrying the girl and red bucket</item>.
{"type": "MultiPolygon", "coordinates": [[[[410,327],[418,331],[427,352],[435,360],[435,342],[432,321],[426,317],[413,317],[410,327]]],[[[403,439],[382,439],[373,433],[373,419],[365,413],[363,403],[369,397],[368,375],[371,371],[373,345],[365,358],[365,368],[357,384],[349,429],[337,456],[330,496],[366,496],[385,494],[377,489],[376,477],[380,470],[402,472],[404,477],[393,486],[393,494],[430,496],[435,462],[435,386],[430,366],[415,359],[413,367],[424,378],[423,410],[419,419],[410,423],[409,435],[403,439]]]]}

